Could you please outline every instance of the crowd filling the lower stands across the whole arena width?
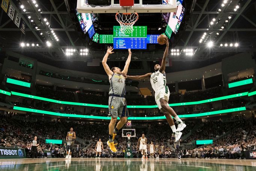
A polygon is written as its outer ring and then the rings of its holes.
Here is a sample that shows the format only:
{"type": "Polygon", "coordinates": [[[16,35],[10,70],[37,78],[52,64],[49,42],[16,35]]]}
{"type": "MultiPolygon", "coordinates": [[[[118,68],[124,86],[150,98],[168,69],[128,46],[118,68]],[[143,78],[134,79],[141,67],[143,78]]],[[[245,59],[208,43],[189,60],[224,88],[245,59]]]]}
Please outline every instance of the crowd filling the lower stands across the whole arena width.
{"type": "MultiPolygon", "coordinates": [[[[244,158],[246,150],[256,149],[256,119],[244,118],[229,119],[230,122],[222,120],[207,120],[202,122],[192,135],[182,140],[181,143],[190,143],[193,140],[216,139],[214,144],[197,147],[194,149],[182,149],[179,154],[184,158],[244,158]],[[235,122],[233,122],[234,120],[235,122]],[[246,125],[246,126],[245,126],[246,125]]],[[[50,121],[47,118],[40,121],[26,121],[26,118],[16,120],[12,114],[1,114],[0,123],[0,146],[1,147],[21,147],[26,149],[28,157],[31,157],[31,142],[34,136],[38,136],[39,146],[37,147],[37,158],[46,157],[44,150],[50,150],[53,157],[65,157],[66,144],[55,145],[45,144],[45,139],[65,139],[70,127],[74,128],[77,136],[88,140],[90,144],[84,149],[81,144],[73,147],[73,157],[90,158],[96,157],[96,142],[101,138],[104,150],[101,157],[118,158],[124,157],[127,138],[121,136],[121,131],[117,133],[116,141],[117,153],[111,153],[107,144],[108,122],[75,122],[75,121],[50,121]]],[[[29,120],[29,119],[28,119],[29,120]]],[[[185,135],[190,132],[198,122],[187,121],[187,127],[182,131],[185,135]]],[[[176,157],[176,151],[167,143],[172,137],[172,131],[167,123],[135,124],[136,137],[131,138],[132,151],[134,157],[140,157],[137,153],[137,141],[142,133],[154,144],[164,146],[164,153],[160,158],[176,157]]],[[[78,142],[76,142],[78,143],[78,142]]]]}

